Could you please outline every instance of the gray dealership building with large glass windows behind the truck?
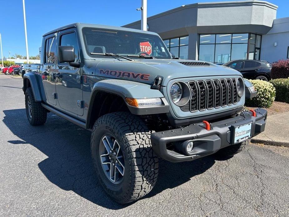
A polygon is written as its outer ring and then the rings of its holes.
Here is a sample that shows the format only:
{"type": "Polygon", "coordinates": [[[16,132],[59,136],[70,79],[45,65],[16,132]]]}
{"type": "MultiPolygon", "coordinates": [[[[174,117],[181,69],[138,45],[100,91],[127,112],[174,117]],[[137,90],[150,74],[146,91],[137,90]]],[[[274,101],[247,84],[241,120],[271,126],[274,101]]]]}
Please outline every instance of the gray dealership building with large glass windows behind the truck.
{"type": "MultiPolygon", "coordinates": [[[[181,59],[272,63],[289,58],[289,17],[276,19],[277,8],[255,0],[195,3],[148,17],[147,28],[181,59]]],[[[140,29],[141,22],[123,27],[140,29]]]]}

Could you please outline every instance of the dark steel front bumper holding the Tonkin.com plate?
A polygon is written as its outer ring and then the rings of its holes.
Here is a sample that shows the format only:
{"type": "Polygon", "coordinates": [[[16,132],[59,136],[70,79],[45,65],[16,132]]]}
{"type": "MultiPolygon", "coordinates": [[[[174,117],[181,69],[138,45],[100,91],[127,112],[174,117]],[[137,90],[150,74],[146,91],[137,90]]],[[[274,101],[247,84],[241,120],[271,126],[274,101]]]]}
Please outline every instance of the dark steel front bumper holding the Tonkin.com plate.
{"type": "Polygon", "coordinates": [[[233,145],[235,126],[252,121],[251,138],[265,129],[267,110],[258,108],[256,116],[251,111],[242,112],[237,117],[210,123],[210,130],[204,123],[191,124],[184,128],[156,132],[151,135],[152,149],[161,158],[170,162],[190,161],[213,154],[219,149],[233,145]],[[194,148],[190,155],[169,148],[190,140],[194,148]]]}

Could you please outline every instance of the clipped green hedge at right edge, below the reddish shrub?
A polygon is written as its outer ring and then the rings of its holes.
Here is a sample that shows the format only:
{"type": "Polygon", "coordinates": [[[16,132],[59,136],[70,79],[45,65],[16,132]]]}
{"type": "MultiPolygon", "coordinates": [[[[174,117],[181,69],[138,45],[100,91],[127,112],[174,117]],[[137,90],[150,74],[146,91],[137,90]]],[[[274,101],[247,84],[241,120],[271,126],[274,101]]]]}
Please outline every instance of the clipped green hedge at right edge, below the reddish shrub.
{"type": "Polygon", "coordinates": [[[289,103],[289,78],[271,80],[276,89],[276,101],[289,103]]]}

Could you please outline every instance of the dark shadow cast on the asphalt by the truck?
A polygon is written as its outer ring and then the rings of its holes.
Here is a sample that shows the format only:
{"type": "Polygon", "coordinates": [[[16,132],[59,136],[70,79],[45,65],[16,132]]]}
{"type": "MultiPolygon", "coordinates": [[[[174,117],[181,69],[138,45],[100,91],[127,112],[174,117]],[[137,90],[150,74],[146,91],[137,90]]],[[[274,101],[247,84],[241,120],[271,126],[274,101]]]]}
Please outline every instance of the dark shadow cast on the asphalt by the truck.
{"type": "MultiPolygon", "coordinates": [[[[81,197],[108,209],[122,209],[129,204],[114,202],[102,189],[90,154],[90,132],[57,115],[48,113],[42,126],[31,126],[25,109],[4,110],[4,124],[18,140],[11,144],[33,145],[47,158],[38,163],[47,179],[59,188],[72,190],[81,197]]],[[[172,189],[209,169],[215,160],[205,157],[192,162],[170,163],[160,160],[157,184],[145,198],[172,189]]]]}

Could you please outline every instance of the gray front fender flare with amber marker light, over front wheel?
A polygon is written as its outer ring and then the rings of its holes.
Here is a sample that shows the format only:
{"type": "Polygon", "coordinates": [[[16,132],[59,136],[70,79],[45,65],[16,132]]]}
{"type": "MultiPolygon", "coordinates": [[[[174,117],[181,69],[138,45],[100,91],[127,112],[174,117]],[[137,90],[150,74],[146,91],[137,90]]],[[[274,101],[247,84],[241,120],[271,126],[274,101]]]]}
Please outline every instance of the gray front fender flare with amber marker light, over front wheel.
{"type": "Polygon", "coordinates": [[[131,114],[160,114],[169,112],[169,104],[159,90],[151,89],[148,84],[107,79],[95,83],[89,101],[86,128],[92,129],[96,119],[104,114],[117,111],[127,111],[131,114]],[[163,105],[155,107],[133,107],[126,103],[128,98],[162,98],[163,105]],[[115,108],[119,106],[119,110],[115,108]],[[106,109],[106,110],[105,110],[106,109]]]}

